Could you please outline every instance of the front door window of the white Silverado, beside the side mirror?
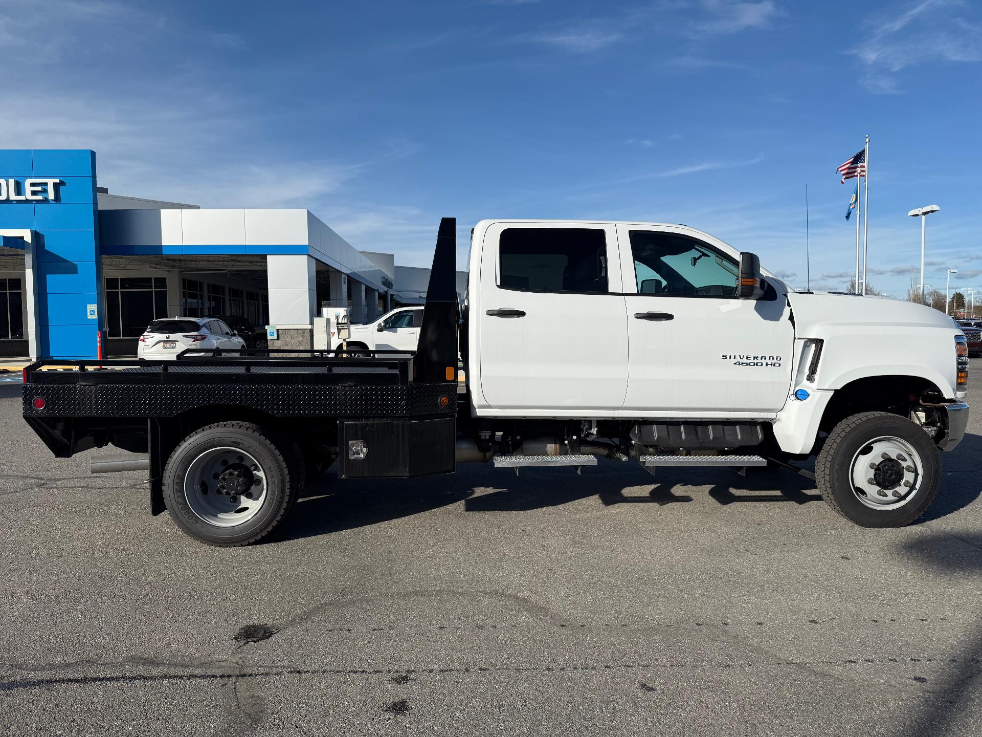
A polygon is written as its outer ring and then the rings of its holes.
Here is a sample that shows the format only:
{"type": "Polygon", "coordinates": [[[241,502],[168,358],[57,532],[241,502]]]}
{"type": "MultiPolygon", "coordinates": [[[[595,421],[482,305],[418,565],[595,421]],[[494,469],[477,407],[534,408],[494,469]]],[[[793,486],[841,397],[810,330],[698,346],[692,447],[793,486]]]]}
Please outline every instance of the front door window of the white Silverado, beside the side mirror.
{"type": "Polygon", "coordinates": [[[736,297],[739,264],[688,236],[632,230],[630,252],[638,294],[736,297]]]}

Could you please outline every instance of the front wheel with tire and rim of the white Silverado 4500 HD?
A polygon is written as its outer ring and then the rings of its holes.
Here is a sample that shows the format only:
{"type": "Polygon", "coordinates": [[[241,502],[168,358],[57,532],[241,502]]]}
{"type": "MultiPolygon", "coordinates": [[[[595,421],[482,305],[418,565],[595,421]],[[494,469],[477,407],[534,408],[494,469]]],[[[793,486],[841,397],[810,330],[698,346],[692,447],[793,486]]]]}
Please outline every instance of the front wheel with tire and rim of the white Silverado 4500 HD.
{"type": "Polygon", "coordinates": [[[815,462],[818,490],[861,527],[903,527],[931,506],[941,457],[928,434],[886,412],[852,415],[836,425],[815,462]]]}

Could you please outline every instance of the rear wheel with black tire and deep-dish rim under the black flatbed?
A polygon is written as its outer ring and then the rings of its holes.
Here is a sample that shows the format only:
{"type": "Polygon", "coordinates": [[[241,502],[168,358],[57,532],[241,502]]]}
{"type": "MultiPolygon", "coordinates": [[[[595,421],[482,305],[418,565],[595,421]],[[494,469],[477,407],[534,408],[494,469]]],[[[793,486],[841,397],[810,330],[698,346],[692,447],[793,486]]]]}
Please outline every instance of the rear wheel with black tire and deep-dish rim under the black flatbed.
{"type": "Polygon", "coordinates": [[[251,423],[216,423],[181,441],[164,468],[167,510],[192,538],[247,545],[269,535],[299,491],[289,449],[251,423]]]}

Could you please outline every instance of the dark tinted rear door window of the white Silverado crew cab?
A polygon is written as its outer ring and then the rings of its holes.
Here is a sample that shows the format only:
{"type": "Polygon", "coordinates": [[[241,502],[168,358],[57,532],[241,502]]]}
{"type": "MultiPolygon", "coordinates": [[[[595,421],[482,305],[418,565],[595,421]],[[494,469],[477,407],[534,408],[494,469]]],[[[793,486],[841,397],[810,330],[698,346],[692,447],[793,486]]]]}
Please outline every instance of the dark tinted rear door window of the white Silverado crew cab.
{"type": "Polygon", "coordinates": [[[524,292],[607,292],[600,228],[506,228],[498,286],[524,292]]]}

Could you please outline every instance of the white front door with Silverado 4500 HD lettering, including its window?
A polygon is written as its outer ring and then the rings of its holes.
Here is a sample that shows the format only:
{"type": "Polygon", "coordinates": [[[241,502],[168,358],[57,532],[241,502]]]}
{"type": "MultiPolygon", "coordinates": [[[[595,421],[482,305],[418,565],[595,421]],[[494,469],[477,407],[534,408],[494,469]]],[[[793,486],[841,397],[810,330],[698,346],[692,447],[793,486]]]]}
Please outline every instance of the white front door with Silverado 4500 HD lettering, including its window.
{"type": "Polygon", "coordinates": [[[683,226],[619,225],[630,360],[622,416],[750,417],[791,387],[788,300],[736,297],[739,255],[683,226]],[[708,414],[713,413],[713,414],[708,414]]]}

